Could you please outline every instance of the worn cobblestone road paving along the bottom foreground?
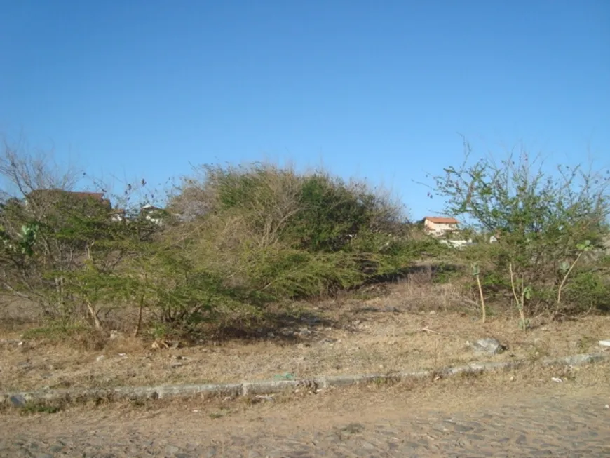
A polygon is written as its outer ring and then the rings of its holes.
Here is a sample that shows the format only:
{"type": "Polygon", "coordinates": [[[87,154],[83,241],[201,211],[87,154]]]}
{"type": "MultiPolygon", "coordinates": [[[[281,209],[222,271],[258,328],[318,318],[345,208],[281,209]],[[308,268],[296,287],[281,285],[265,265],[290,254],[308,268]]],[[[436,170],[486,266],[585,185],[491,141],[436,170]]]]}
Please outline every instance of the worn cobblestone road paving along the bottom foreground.
{"type": "MultiPolygon", "coordinates": [[[[5,415],[1,457],[610,457],[610,388],[496,400],[464,412],[393,411],[384,419],[340,415],[323,426],[213,426],[208,415],[157,417],[5,415]],[[604,394],[605,393],[605,394],[604,394]],[[11,424],[12,422],[12,424],[11,424]]],[[[400,410],[400,409],[399,409],[400,410]]],[[[228,420],[227,420],[228,421],[228,420]]]]}

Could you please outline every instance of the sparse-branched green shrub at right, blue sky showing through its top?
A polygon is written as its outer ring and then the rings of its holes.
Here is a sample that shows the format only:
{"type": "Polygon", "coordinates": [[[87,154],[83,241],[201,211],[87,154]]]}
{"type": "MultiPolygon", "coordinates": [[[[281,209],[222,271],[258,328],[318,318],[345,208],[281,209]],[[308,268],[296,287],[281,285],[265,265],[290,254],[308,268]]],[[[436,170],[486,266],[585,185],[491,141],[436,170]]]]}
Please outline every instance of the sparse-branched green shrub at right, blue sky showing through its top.
{"type": "MultiPolygon", "coordinates": [[[[557,316],[581,311],[588,299],[569,295],[576,264],[595,265],[609,234],[610,176],[580,167],[558,166],[545,172],[525,153],[496,163],[483,158],[434,177],[438,194],[447,199],[447,214],[468,220],[480,233],[495,234],[497,243],[460,250],[463,262],[484,266],[482,285],[512,294],[509,266],[523,291],[528,313],[557,316]]],[[[519,301],[517,301],[519,302],[519,301]]]]}

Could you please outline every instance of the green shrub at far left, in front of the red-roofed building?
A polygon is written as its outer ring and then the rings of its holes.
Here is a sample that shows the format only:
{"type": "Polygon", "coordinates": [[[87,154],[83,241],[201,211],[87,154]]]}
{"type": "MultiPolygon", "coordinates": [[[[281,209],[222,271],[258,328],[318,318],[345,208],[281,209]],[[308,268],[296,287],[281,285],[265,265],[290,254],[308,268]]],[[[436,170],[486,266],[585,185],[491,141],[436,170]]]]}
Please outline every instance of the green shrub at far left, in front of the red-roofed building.
{"type": "Polygon", "coordinates": [[[156,230],[146,221],[114,221],[100,196],[34,189],[1,208],[2,286],[62,323],[55,331],[67,333],[83,321],[100,328],[102,309],[129,296],[123,261],[156,230]]]}

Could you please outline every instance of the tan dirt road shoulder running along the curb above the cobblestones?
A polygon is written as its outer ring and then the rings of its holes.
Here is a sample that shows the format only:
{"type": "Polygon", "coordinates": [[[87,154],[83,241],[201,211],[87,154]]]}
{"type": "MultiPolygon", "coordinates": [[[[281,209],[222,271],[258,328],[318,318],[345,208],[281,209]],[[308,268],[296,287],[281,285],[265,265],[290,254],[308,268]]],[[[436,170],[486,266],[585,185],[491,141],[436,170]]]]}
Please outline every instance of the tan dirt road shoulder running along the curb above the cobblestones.
{"type": "MultiPolygon", "coordinates": [[[[144,401],[108,401],[62,405],[57,414],[9,408],[0,411],[0,419],[13,419],[26,426],[32,419],[71,418],[154,418],[188,416],[205,417],[212,429],[222,432],[231,428],[256,426],[260,419],[273,422],[280,431],[294,424],[323,426],[338,419],[398,418],[410,413],[442,410],[468,412],[485,405],[507,403],[511,399],[538,396],[563,396],[569,393],[597,393],[610,403],[610,361],[578,367],[542,366],[533,361],[524,368],[497,370],[433,382],[407,380],[396,384],[366,384],[346,388],[328,388],[319,393],[285,391],[272,396],[191,396],[144,401]],[[556,382],[554,379],[561,379],[556,382]],[[28,420],[29,419],[29,420],[28,420]],[[208,422],[209,419],[214,422],[208,422]],[[286,422],[287,419],[293,419],[286,422]]],[[[603,407],[603,406],[602,406],[603,407]]],[[[182,419],[184,420],[184,419],[182,419]]]]}

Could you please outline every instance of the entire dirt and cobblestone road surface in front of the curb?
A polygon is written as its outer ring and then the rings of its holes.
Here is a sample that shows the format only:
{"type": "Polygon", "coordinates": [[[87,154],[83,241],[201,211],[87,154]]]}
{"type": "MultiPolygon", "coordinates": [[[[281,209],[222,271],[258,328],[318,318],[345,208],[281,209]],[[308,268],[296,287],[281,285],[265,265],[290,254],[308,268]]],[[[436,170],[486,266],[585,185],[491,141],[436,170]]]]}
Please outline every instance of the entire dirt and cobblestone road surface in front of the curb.
{"type": "Polygon", "coordinates": [[[608,363],[318,394],[0,412],[0,456],[608,456],[608,363]],[[553,377],[562,377],[562,382],[553,377]]]}

